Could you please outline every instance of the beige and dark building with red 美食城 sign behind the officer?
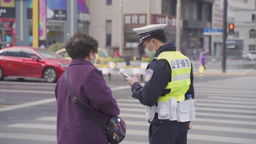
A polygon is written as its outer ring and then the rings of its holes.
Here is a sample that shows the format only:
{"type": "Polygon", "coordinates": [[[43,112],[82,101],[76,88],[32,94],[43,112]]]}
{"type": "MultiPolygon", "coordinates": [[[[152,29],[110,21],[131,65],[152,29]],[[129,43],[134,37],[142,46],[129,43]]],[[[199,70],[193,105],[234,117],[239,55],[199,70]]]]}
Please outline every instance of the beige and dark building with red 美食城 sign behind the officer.
{"type": "MultiPolygon", "coordinates": [[[[204,36],[204,28],[211,28],[211,12],[214,0],[182,0],[181,48],[188,56],[193,50],[210,49],[211,37],[204,36]]],[[[169,43],[176,42],[177,0],[150,0],[150,24],[167,24],[165,34],[169,43]]],[[[91,26],[89,33],[107,48],[110,55],[119,49],[119,0],[91,0],[91,26]],[[100,9],[100,10],[99,10],[100,9]]],[[[123,0],[124,56],[145,56],[143,48],[137,48],[138,35],[133,28],[147,25],[147,0],[123,0]]]]}

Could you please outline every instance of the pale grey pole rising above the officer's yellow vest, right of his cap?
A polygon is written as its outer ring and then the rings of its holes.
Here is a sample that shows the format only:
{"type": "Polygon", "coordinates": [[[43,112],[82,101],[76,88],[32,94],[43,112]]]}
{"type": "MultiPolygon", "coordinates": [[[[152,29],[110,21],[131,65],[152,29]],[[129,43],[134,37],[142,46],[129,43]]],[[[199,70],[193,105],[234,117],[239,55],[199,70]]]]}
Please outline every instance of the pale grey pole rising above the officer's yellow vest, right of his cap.
{"type": "Polygon", "coordinates": [[[180,0],[177,0],[176,10],[176,50],[180,50],[180,0]]]}

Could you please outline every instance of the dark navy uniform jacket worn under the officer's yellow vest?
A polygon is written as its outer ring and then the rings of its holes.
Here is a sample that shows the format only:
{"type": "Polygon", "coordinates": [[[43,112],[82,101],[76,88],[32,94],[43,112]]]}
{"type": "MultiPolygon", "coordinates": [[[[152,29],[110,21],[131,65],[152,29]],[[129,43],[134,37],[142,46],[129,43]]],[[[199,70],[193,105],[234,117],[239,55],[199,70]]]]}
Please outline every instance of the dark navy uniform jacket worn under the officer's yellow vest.
{"type": "MultiPolygon", "coordinates": [[[[161,52],[175,51],[176,46],[174,44],[166,44],[161,46],[156,52],[155,57],[158,57],[161,52]]],[[[168,62],[164,59],[156,60],[155,58],[147,65],[147,69],[152,69],[153,74],[148,82],[145,82],[144,87],[138,82],[132,85],[132,97],[140,101],[141,104],[147,106],[157,105],[159,96],[165,96],[171,92],[171,89],[165,89],[168,82],[171,82],[171,68],[168,62]]],[[[190,74],[191,85],[186,94],[191,94],[194,98],[194,87],[193,87],[193,70],[191,64],[190,74]]],[[[185,95],[186,95],[185,94],[185,95]]],[[[157,113],[151,123],[159,125],[170,125],[169,120],[159,120],[157,113]]]]}

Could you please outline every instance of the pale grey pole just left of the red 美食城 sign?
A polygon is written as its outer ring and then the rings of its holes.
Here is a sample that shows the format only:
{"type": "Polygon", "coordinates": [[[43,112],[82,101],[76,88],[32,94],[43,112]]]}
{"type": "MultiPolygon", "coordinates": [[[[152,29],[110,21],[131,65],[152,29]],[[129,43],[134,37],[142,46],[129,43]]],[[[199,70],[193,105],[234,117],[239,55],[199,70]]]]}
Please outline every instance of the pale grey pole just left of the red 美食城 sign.
{"type": "Polygon", "coordinates": [[[119,6],[119,54],[123,56],[124,53],[124,16],[123,16],[123,0],[120,0],[119,6]]]}

